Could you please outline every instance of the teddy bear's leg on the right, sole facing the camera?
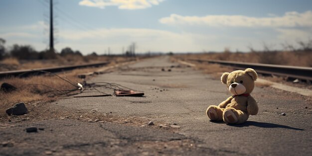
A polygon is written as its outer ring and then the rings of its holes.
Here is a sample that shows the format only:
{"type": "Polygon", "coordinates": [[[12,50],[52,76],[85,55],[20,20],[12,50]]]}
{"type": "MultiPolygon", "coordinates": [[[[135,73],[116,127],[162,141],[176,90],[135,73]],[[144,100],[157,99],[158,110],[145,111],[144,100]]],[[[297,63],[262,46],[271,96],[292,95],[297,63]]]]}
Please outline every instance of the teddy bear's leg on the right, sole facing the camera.
{"type": "Polygon", "coordinates": [[[241,124],[248,119],[247,113],[234,108],[226,108],[223,111],[223,121],[229,124],[241,124]]]}

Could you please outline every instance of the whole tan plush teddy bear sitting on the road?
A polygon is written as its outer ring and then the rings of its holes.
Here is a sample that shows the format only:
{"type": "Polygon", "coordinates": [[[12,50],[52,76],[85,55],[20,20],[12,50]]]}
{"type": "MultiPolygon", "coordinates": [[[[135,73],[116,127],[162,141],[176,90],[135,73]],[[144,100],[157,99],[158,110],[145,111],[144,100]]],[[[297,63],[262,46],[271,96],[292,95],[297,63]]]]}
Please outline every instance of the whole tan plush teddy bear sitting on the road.
{"type": "Polygon", "coordinates": [[[233,94],[218,106],[208,107],[206,114],[211,121],[224,121],[228,124],[242,124],[249,115],[258,113],[256,100],[250,95],[255,88],[258,75],[254,69],[236,70],[223,73],[221,82],[233,94]]]}

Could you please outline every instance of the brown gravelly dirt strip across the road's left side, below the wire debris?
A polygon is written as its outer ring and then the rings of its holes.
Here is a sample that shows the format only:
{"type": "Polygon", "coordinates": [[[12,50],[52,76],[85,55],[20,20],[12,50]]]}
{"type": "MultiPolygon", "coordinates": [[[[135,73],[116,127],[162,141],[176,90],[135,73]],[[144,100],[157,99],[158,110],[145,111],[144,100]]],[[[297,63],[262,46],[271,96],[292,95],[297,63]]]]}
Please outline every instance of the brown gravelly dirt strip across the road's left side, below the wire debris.
{"type": "MultiPolygon", "coordinates": [[[[56,103],[57,104],[57,103],[56,103]]],[[[94,110],[78,110],[78,109],[68,109],[64,106],[55,106],[51,101],[37,101],[37,102],[27,102],[25,103],[28,109],[28,114],[21,116],[8,116],[5,113],[5,108],[0,109],[0,123],[21,123],[25,121],[40,121],[40,120],[65,120],[73,119],[81,122],[89,123],[118,123],[137,127],[151,127],[151,128],[161,128],[166,130],[177,131],[176,128],[171,128],[169,124],[171,123],[161,123],[158,122],[156,125],[148,126],[150,122],[146,118],[137,118],[133,116],[120,117],[115,112],[99,112],[94,110]],[[165,125],[165,126],[159,126],[165,125]]]]}

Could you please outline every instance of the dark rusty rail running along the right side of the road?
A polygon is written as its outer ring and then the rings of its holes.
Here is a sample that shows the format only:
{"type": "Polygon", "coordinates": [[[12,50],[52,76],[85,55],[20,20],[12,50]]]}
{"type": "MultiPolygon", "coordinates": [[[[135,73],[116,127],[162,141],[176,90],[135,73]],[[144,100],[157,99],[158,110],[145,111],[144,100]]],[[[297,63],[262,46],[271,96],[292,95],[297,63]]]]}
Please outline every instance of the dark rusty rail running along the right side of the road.
{"type": "Polygon", "coordinates": [[[288,78],[295,78],[301,80],[312,81],[312,68],[299,66],[286,66],[274,64],[260,64],[260,63],[245,63],[234,61],[221,60],[202,60],[202,59],[187,59],[188,61],[217,63],[224,66],[231,66],[235,69],[245,70],[246,68],[253,68],[261,74],[271,74],[278,76],[285,76],[288,78]]]}

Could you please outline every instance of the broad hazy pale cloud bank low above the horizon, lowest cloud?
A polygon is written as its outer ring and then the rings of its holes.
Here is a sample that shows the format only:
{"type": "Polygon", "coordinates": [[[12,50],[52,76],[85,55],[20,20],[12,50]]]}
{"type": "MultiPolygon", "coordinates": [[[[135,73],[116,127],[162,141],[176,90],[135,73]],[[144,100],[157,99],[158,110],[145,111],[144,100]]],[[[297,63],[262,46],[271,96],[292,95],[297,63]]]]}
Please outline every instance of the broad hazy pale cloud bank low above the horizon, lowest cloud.
{"type": "Polygon", "coordinates": [[[174,33],[157,29],[101,28],[87,32],[79,30],[63,30],[62,32],[60,37],[64,44],[80,43],[75,48],[86,52],[103,53],[104,49],[110,47],[115,53],[121,53],[122,47],[127,49],[132,42],[137,43],[138,52],[194,51],[194,49],[200,51],[206,48],[197,44],[196,36],[193,37],[190,33],[174,33]]]}

